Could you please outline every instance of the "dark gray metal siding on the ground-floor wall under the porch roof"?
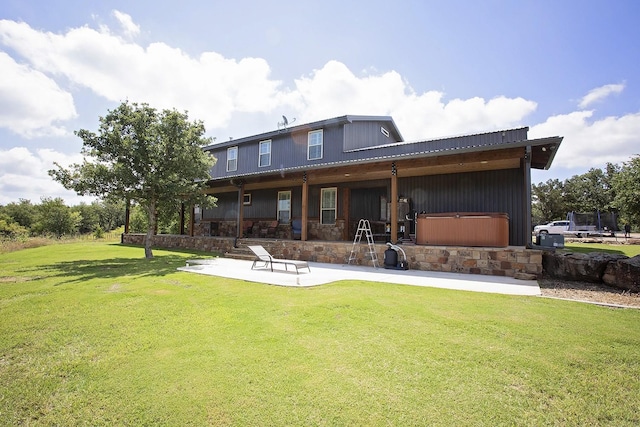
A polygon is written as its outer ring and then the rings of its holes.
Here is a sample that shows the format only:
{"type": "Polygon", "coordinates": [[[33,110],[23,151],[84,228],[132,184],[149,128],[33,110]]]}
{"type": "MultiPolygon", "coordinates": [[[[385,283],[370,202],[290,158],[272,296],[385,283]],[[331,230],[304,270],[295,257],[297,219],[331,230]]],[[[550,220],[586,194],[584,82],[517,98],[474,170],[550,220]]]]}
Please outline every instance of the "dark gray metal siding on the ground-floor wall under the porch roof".
{"type": "MultiPolygon", "coordinates": [[[[464,174],[433,175],[398,179],[399,197],[411,201],[415,212],[505,212],[509,215],[509,244],[524,246],[525,218],[523,199],[524,174],[521,169],[507,169],[464,174]]],[[[350,217],[377,221],[380,197],[390,200],[389,180],[349,183],[351,188],[350,217]]],[[[320,215],[320,189],[338,187],[338,218],[343,218],[345,186],[327,184],[309,186],[309,217],[320,215]]],[[[291,216],[302,216],[302,188],[281,188],[251,193],[251,205],[244,207],[246,219],[275,219],[278,191],[291,191],[291,216]]],[[[218,207],[207,209],[204,219],[233,220],[237,218],[238,193],[216,194],[218,207]]]]}

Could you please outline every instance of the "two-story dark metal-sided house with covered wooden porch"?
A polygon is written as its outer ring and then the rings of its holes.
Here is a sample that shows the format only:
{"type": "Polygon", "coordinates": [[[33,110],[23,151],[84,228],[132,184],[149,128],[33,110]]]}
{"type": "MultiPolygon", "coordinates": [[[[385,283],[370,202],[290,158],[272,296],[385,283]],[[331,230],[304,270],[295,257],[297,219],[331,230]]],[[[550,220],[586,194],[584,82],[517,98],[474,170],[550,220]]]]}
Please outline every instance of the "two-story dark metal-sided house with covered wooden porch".
{"type": "Polygon", "coordinates": [[[416,213],[500,213],[508,244],[531,243],[531,168],[562,142],[528,128],[404,141],[386,116],[342,116],[205,147],[217,158],[196,235],[350,241],[360,219],[415,240],[416,213]]]}

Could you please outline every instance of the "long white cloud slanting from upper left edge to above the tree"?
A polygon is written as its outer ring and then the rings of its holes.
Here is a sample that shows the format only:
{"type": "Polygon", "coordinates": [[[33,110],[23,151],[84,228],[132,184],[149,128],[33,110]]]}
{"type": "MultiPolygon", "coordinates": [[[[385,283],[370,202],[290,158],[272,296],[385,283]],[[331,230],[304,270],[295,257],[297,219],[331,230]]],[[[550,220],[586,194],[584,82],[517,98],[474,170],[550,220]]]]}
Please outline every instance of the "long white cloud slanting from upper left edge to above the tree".
{"type": "Polygon", "coordinates": [[[205,52],[189,57],[164,43],[143,48],[88,27],[65,34],[0,21],[0,40],[42,72],[63,76],[110,101],[147,102],[188,110],[208,127],[224,127],[236,112],[268,111],[280,82],[263,59],[240,61],[205,52]]]}

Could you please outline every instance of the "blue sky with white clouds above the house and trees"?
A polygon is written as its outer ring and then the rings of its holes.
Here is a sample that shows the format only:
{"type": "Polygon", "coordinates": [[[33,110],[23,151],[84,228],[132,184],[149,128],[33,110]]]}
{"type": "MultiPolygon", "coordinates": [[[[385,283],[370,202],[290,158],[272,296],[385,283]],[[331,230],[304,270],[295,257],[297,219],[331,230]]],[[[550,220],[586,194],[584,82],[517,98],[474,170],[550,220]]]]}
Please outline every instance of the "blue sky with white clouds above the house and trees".
{"type": "Polygon", "coordinates": [[[4,0],[0,204],[83,200],[46,171],[124,100],[188,110],[217,141],[283,114],[564,136],[534,182],[621,164],[640,154],[639,18],[635,0],[4,0]]]}

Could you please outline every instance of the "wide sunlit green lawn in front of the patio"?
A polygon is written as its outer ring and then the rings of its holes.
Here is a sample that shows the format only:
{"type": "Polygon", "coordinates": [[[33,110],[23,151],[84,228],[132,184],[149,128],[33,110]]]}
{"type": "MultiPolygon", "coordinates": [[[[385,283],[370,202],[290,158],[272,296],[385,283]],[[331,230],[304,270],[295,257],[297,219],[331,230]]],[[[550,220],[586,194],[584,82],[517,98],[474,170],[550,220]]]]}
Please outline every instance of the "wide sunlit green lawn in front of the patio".
{"type": "Polygon", "coordinates": [[[2,425],[638,425],[640,311],[176,271],[80,242],[0,255],[2,425]]]}

